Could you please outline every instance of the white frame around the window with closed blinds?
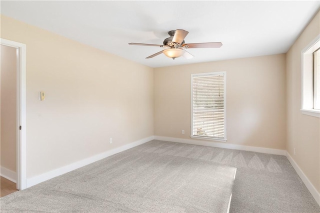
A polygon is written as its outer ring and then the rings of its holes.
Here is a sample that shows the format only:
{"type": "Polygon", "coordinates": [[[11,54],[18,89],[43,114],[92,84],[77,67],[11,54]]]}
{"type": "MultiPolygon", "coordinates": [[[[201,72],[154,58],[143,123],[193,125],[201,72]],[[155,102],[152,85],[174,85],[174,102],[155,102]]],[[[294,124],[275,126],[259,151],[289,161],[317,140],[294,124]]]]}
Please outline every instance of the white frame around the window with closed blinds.
{"type": "Polygon", "coordinates": [[[190,123],[190,137],[194,139],[203,139],[203,140],[213,140],[218,142],[226,142],[226,72],[225,71],[217,71],[217,72],[203,72],[203,73],[193,73],[190,74],[190,103],[191,103],[191,123],[190,123]],[[205,137],[205,136],[196,136],[193,135],[193,76],[203,76],[203,75],[219,75],[223,74],[223,108],[224,108],[224,137],[214,138],[214,137],[205,137]]]}

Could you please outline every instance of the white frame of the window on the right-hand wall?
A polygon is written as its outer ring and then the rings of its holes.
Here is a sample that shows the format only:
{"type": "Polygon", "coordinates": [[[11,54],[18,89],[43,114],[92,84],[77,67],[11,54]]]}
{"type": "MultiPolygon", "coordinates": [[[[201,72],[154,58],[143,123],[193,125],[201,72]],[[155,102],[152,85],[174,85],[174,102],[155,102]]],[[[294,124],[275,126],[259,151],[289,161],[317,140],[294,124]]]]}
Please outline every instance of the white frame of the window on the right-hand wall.
{"type": "Polygon", "coordinates": [[[301,113],[320,117],[320,110],[314,109],[313,52],[320,47],[320,34],[301,51],[301,113]]]}

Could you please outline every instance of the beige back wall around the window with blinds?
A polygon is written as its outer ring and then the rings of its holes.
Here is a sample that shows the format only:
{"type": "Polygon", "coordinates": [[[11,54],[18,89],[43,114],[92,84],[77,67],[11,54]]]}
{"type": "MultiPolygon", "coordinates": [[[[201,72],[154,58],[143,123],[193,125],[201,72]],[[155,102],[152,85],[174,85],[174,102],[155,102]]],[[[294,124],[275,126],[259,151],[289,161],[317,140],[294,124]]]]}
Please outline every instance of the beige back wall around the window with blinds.
{"type": "Polygon", "coordinates": [[[285,54],[155,68],[154,135],[190,139],[190,74],[214,71],[226,71],[227,143],[285,149],[285,54]]]}

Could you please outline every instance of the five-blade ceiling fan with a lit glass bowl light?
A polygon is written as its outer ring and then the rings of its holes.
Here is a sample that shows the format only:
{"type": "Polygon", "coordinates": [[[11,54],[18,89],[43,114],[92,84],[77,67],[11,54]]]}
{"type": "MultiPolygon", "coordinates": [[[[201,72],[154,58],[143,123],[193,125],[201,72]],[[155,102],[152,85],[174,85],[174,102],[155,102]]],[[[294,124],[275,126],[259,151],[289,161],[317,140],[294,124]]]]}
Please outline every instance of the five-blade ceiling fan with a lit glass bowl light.
{"type": "Polygon", "coordinates": [[[150,44],[150,43],[129,43],[129,45],[143,45],[143,46],[159,46],[167,47],[164,50],[161,50],[157,53],[154,53],[146,58],[154,57],[158,54],[164,53],[166,56],[174,59],[176,57],[183,56],[186,59],[193,57],[192,54],[187,52],[187,48],[219,48],[222,46],[221,42],[208,42],[208,43],[184,43],[184,38],[188,34],[188,31],[184,29],[170,30],[168,34],[170,37],[167,37],[163,40],[163,45],[161,44],[150,44]]]}

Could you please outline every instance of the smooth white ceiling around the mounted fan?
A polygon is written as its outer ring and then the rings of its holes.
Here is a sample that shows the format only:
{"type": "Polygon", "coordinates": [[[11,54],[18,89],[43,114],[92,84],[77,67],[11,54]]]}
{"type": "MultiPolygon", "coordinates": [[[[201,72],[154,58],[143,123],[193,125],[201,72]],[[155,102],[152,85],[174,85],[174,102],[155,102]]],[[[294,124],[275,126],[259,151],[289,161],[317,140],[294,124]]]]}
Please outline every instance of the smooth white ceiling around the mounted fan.
{"type": "Polygon", "coordinates": [[[0,1],[1,14],[151,67],[284,53],[319,9],[312,1],[0,1]],[[192,59],[172,60],[156,46],[185,29],[192,59]]]}

